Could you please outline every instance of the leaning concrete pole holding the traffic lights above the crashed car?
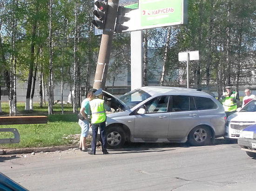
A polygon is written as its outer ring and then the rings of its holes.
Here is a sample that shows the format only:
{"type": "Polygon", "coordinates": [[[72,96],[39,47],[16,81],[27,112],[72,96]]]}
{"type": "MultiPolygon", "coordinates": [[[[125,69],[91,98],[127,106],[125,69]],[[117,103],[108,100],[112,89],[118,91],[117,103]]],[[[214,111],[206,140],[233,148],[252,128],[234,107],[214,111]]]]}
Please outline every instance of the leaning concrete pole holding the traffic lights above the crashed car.
{"type": "Polygon", "coordinates": [[[100,52],[94,77],[93,88],[95,89],[105,89],[118,3],[119,0],[108,0],[108,10],[105,21],[106,23],[101,37],[100,52]]]}

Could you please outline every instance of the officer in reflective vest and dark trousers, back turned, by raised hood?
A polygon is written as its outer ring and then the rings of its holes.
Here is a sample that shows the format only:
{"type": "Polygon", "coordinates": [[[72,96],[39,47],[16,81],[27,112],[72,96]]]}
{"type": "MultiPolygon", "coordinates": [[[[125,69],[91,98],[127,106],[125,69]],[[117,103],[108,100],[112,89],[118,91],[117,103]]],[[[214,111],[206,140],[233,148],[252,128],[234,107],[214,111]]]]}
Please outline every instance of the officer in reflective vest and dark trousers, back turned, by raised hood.
{"type": "Polygon", "coordinates": [[[108,154],[107,151],[107,143],[106,143],[106,112],[105,109],[110,109],[106,106],[102,95],[102,89],[98,89],[95,91],[94,95],[96,96],[94,100],[90,101],[90,108],[92,112],[92,132],[93,132],[93,140],[92,140],[92,150],[88,152],[88,154],[95,154],[96,152],[96,141],[98,135],[98,128],[100,127],[101,132],[101,146],[103,154],[108,154]]]}

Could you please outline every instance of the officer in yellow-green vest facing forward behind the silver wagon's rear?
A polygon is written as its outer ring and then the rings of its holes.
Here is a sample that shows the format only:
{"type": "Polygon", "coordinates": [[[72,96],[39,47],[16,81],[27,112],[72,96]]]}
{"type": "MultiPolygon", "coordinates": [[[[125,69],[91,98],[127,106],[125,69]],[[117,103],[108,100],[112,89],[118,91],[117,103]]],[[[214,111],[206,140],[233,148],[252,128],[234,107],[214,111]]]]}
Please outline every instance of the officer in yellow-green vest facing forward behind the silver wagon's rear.
{"type": "Polygon", "coordinates": [[[239,96],[236,91],[232,90],[232,85],[228,84],[226,86],[226,92],[221,96],[221,103],[225,110],[227,117],[236,112],[237,106],[239,106],[239,96]]]}

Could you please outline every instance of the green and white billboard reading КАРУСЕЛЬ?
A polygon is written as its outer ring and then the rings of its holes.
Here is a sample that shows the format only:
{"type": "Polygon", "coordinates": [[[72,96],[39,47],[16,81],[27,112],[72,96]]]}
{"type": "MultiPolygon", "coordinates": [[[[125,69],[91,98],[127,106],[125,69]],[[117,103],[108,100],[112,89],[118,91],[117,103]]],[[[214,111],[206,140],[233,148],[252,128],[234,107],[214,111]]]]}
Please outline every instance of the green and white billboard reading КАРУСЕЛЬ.
{"type": "Polygon", "coordinates": [[[130,20],[123,25],[128,31],[138,31],[170,25],[187,24],[187,0],[139,0],[139,9],[125,14],[130,20]]]}

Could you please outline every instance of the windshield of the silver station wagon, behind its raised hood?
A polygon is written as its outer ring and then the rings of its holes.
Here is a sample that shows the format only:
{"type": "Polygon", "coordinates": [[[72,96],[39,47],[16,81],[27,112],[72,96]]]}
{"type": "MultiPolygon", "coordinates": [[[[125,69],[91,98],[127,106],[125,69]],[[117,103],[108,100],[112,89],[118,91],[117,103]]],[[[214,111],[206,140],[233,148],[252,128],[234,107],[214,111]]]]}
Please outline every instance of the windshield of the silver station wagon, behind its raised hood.
{"type": "Polygon", "coordinates": [[[133,108],[135,105],[148,99],[149,97],[151,96],[142,89],[135,89],[120,96],[119,99],[124,102],[128,108],[133,108]]]}

